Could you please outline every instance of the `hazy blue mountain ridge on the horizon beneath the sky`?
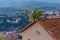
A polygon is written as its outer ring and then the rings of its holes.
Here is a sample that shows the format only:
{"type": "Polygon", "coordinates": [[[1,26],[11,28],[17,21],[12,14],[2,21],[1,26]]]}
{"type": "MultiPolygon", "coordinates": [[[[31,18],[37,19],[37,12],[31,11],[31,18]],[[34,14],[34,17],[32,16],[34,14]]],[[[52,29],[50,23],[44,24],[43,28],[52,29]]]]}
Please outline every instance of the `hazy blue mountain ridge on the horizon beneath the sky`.
{"type": "Polygon", "coordinates": [[[60,7],[58,3],[47,3],[47,2],[39,2],[39,1],[25,1],[21,2],[17,6],[26,7],[26,8],[38,8],[38,7],[60,7]]]}

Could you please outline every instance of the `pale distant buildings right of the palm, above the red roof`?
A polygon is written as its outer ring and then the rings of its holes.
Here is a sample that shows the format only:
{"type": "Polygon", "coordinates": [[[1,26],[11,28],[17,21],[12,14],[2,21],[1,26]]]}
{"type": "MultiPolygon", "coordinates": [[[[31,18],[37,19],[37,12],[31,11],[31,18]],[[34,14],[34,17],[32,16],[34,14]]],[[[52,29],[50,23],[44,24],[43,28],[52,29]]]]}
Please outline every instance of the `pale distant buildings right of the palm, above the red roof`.
{"type": "Polygon", "coordinates": [[[60,10],[45,11],[43,18],[60,18],[60,10]]]}

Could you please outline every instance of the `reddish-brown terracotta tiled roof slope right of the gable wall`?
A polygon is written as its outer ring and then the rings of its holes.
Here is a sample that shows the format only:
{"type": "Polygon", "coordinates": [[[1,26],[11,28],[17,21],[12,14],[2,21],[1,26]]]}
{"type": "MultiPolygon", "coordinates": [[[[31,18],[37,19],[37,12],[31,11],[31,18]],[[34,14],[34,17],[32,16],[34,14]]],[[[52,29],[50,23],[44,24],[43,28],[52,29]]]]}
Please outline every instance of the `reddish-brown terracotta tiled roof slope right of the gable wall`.
{"type": "Polygon", "coordinates": [[[39,22],[56,40],[60,40],[60,18],[40,19],[39,22]]]}

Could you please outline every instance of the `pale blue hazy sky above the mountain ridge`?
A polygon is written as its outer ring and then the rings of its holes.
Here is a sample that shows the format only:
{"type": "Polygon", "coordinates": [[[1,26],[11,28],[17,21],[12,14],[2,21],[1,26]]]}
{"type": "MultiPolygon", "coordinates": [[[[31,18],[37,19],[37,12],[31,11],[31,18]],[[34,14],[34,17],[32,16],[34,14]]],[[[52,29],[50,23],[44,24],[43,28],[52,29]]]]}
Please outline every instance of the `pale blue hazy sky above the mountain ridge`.
{"type": "Polygon", "coordinates": [[[20,2],[24,2],[24,1],[40,1],[40,2],[59,3],[60,4],[60,0],[0,0],[0,7],[14,6],[14,5],[17,5],[20,2]]]}

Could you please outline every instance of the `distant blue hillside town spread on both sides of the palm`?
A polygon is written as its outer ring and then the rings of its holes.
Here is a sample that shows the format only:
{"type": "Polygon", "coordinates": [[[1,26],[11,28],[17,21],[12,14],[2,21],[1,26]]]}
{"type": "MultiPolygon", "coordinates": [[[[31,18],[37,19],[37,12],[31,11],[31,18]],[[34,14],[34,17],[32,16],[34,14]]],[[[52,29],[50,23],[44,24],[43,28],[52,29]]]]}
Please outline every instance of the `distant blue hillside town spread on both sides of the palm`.
{"type": "MultiPolygon", "coordinates": [[[[29,13],[27,9],[1,8],[0,31],[15,31],[22,29],[30,23],[27,15],[29,13]]],[[[60,18],[60,10],[44,10],[41,18],[60,18]]]]}

